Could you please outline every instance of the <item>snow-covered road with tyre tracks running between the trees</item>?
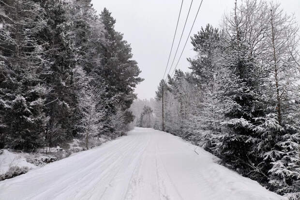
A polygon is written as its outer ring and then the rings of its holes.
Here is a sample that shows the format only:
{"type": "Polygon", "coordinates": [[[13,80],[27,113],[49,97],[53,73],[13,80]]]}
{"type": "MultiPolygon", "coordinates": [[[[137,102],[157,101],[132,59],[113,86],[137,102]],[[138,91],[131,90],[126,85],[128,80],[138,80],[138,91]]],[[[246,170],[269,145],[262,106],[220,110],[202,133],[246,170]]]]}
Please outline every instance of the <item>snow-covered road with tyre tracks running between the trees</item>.
{"type": "Polygon", "coordinates": [[[0,182],[0,200],[280,200],[170,134],[128,136],[0,182]]]}

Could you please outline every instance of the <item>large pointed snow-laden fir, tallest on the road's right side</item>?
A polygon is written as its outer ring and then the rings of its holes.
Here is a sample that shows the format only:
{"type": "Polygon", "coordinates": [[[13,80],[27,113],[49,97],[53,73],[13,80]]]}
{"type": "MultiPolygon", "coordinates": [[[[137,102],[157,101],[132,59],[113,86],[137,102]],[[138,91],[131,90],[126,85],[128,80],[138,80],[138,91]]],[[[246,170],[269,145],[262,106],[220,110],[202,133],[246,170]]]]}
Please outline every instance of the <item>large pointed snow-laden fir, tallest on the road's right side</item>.
{"type": "Polygon", "coordinates": [[[222,55],[225,73],[217,77],[219,82],[215,92],[223,128],[212,140],[215,143],[214,153],[222,158],[223,163],[245,176],[266,182],[268,176],[259,166],[265,164],[256,152],[256,144],[262,138],[254,130],[257,125],[255,118],[265,114],[261,96],[268,71],[261,61],[262,52],[257,48],[262,36],[255,34],[255,31],[263,31],[264,27],[256,30],[255,25],[247,21],[251,17],[260,19],[262,9],[258,8],[263,6],[261,2],[255,2],[246,4],[246,10],[242,10],[236,2],[234,12],[225,17],[226,50],[222,55]],[[244,12],[247,9],[254,9],[256,13],[244,12]],[[254,31],[250,33],[251,30],[254,31]]]}

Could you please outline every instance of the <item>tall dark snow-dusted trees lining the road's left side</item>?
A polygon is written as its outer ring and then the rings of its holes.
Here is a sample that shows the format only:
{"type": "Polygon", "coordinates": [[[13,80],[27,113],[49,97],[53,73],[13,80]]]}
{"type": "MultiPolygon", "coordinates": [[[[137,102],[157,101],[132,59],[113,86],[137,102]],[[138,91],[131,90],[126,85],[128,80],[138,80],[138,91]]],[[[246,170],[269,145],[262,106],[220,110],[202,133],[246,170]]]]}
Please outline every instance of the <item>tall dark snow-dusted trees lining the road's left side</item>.
{"type": "Polygon", "coordinates": [[[0,148],[122,135],[140,70],[90,0],[0,0],[0,148]]]}

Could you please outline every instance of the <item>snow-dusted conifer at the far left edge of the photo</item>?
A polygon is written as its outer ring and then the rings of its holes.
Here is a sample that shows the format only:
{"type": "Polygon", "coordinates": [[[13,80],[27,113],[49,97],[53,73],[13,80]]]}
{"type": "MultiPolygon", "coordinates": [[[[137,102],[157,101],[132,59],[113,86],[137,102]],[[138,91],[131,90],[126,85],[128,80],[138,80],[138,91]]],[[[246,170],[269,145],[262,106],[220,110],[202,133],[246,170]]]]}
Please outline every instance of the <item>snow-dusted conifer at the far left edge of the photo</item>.
{"type": "Polygon", "coordinates": [[[32,0],[0,1],[0,6],[1,135],[8,147],[34,150],[43,144],[48,121],[48,87],[42,78],[51,74],[51,62],[47,41],[39,36],[46,26],[45,10],[32,0]]]}

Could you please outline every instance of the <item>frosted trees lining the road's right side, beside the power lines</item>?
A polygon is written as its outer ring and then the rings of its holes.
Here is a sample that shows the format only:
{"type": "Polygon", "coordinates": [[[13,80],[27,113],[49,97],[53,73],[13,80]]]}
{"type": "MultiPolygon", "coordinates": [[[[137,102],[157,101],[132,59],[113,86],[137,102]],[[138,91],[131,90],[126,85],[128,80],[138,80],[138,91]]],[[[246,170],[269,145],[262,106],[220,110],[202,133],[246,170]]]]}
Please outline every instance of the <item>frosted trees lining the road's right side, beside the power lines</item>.
{"type": "MultiPolygon", "coordinates": [[[[236,1],[191,37],[190,72],[156,92],[152,127],[194,144],[271,191],[300,198],[299,28],[279,3],[236,1]]],[[[137,123],[144,127],[145,123],[137,123]]]]}

